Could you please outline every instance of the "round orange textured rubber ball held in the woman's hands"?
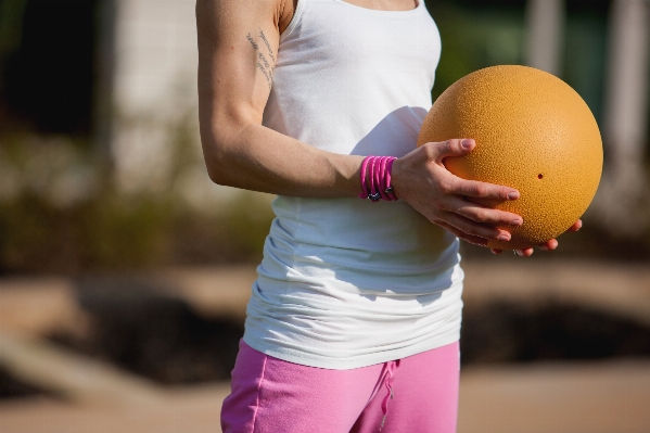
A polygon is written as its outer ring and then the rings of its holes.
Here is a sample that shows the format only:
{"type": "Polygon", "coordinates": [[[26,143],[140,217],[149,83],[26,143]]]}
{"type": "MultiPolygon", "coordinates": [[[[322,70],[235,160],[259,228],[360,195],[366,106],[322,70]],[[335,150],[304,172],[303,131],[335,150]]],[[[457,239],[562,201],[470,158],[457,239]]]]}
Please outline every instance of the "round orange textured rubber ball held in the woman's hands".
{"type": "Polygon", "coordinates": [[[476,147],[444,161],[464,179],[515,188],[519,200],[487,203],[521,215],[499,227],[509,242],[494,249],[543,244],[566,231],[589,206],[602,171],[602,141],[583,99],[561,79],[526,66],[494,66],[451,85],[426,115],[418,145],[473,138],[476,147]]]}

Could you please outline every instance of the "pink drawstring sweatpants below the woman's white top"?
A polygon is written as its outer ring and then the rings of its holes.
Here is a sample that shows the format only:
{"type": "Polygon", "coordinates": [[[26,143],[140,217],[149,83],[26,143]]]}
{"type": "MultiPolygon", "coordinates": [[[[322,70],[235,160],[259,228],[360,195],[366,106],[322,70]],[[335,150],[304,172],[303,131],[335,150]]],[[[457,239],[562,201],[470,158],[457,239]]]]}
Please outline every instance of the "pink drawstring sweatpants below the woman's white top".
{"type": "Polygon", "coordinates": [[[288,362],[243,341],[224,433],[454,433],[458,343],[352,370],[288,362]]]}

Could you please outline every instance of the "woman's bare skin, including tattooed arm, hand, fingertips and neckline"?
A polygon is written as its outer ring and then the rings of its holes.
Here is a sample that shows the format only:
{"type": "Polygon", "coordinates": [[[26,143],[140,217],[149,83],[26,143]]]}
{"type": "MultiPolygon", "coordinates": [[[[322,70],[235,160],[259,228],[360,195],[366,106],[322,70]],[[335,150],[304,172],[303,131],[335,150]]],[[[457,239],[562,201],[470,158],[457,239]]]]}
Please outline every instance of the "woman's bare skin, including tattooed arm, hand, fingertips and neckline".
{"type": "MultiPolygon", "coordinates": [[[[379,10],[409,10],[417,4],[415,0],[349,2],[379,10]]],[[[280,34],[294,9],[293,0],[196,1],[199,116],[207,171],[216,183],[246,190],[356,198],[362,156],[324,152],[262,125],[275,65],[260,71],[252,46],[262,44],[257,35],[264,33],[264,49],[277,54],[280,34]]],[[[517,200],[517,190],[460,179],[445,168],[445,157],[462,156],[474,147],[471,139],[423,144],[395,161],[392,182],[397,196],[432,224],[485,246],[488,240],[510,240],[510,233],[496,225],[519,226],[522,218],[471,202],[472,198],[517,200]]],[[[570,231],[581,226],[576,221],[570,231]]],[[[557,246],[555,239],[540,245],[548,251],[557,246]]],[[[530,256],[533,251],[524,249],[520,255],[530,256]]]]}

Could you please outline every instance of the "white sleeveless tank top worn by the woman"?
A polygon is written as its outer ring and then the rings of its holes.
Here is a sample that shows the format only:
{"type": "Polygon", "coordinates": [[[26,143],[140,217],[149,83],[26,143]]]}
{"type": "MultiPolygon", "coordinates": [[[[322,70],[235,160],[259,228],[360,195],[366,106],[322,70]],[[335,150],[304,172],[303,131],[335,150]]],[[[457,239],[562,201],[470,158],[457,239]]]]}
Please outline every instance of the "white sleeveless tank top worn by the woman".
{"type": "MultiPolygon", "coordinates": [[[[264,125],[329,152],[403,156],[431,107],[439,53],[422,0],[410,11],[299,0],[264,125]]],[[[351,369],[459,339],[456,237],[403,201],[279,196],[272,206],[247,307],[250,346],[351,369]]]]}

